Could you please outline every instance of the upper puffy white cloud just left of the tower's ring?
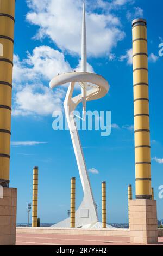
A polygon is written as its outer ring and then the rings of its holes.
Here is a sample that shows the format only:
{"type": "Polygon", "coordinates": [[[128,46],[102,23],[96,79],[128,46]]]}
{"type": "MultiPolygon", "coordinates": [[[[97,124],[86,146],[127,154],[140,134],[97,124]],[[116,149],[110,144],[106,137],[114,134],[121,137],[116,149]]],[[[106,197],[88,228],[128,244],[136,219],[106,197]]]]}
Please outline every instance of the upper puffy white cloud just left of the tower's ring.
{"type": "Polygon", "coordinates": [[[69,72],[70,64],[65,61],[63,53],[49,46],[35,47],[32,54],[27,52],[27,58],[20,61],[14,56],[14,76],[18,82],[51,80],[58,73],[69,72]]]}

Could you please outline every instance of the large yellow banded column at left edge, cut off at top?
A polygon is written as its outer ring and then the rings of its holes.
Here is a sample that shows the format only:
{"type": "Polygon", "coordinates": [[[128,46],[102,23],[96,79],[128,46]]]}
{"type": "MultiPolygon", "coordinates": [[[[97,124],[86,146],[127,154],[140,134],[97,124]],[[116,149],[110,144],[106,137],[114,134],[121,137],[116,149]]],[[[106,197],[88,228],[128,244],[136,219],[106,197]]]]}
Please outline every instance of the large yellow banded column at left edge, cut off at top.
{"type": "Polygon", "coordinates": [[[0,185],[9,186],[15,0],[0,0],[0,185]]]}

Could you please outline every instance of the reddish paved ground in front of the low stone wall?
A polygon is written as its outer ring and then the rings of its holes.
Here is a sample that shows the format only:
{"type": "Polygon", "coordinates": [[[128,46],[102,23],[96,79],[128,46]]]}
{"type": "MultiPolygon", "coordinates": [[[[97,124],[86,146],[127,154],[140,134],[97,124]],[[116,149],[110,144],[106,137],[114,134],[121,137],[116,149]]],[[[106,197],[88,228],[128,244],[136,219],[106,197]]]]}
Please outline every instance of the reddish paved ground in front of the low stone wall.
{"type": "MultiPolygon", "coordinates": [[[[16,245],[135,245],[128,237],[101,235],[67,235],[67,234],[26,234],[17,233],[16,245]]],[[[138,245],[138,244],[137,244],[138,245]]],[[[158,245],[163,245],[159,237],[158,245]]]]}

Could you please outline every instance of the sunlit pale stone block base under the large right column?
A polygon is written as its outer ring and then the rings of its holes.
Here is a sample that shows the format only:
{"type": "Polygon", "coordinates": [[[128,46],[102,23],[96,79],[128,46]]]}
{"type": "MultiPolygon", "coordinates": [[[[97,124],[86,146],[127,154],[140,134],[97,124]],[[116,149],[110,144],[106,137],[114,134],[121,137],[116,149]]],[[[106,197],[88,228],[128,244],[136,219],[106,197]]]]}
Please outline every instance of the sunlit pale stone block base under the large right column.
{"type": "Polygon", "coordinates": [[[158,243],[158,219],[156,201],[130,200],[130,242],[158,243]]]}

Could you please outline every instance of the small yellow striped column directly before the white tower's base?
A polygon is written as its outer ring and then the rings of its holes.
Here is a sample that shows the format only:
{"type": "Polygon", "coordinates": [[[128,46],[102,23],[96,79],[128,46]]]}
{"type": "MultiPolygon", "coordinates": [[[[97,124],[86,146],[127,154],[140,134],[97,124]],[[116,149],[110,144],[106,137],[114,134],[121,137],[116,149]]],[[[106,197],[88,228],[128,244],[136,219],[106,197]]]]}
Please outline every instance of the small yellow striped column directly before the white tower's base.
{"type": "Polygon", "coordinates": [[[70,210],[70,227],[76,227],[76,178],[71,178],[71,210],[70,210]]]}

